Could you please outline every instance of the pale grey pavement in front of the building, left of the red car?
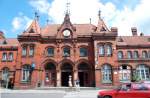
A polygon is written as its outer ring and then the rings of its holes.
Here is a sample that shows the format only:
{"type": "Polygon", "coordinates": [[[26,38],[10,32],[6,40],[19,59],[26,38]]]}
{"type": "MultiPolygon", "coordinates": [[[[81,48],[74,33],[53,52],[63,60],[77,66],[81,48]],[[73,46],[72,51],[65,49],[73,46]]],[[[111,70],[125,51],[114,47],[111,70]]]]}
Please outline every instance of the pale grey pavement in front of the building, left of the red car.
{"type": "Polygon", "coordinates": [[[99,90],[8,90],[0,89],[0,98],[97,98],[99,90]]]}

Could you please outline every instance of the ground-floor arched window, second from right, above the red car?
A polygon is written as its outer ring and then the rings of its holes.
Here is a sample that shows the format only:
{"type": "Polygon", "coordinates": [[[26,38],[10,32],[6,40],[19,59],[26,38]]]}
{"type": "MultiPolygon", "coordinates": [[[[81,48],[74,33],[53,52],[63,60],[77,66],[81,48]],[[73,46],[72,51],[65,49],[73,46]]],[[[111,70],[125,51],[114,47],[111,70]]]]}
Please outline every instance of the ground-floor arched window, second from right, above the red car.
{"type": "Polygon", "coordinates": [[[131,67],[127,65],[122,65],[119,67],[119,79],[122,82],[131,80],[131,67]]]}

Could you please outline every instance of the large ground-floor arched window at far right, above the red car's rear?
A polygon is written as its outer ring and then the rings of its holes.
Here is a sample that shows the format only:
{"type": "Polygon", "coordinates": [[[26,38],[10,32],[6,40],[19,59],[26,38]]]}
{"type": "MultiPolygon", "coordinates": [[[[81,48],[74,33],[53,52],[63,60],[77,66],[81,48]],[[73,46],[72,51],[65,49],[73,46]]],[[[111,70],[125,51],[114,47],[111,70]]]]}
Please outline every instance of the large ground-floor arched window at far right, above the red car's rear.
{"type": "Polygon", "coordinates": [[[139,65],[136,68],[137,76],[141,80],[149,80],[150,79],[150,68],[144,64],[139,65]]]}

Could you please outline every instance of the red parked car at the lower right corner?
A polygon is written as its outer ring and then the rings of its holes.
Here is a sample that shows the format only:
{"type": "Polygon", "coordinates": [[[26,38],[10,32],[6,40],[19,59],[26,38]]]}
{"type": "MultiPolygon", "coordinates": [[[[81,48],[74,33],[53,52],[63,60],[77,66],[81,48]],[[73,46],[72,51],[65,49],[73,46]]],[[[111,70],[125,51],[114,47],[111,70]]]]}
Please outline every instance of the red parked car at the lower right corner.
{"type": "Polygon", "coordinates": [[[98,98],[150,98],[150,83],[127,83],[98,92],[98,98]]]}

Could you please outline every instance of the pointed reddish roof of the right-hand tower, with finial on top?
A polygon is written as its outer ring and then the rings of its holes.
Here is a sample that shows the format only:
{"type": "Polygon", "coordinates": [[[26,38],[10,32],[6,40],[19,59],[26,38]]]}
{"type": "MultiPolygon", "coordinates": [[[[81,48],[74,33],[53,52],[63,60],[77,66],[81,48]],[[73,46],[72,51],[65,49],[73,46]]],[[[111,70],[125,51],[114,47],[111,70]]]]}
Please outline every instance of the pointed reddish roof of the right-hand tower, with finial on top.
{"type": "Polygon", "coordinates": [[[109,29],[107,28],[106,24],[104,23],[103,19],[101,18],[101,11],[99,11],[98,18],[99,18],[99,20],[98,20],[96,33],[109,32],[109,29]]]}

